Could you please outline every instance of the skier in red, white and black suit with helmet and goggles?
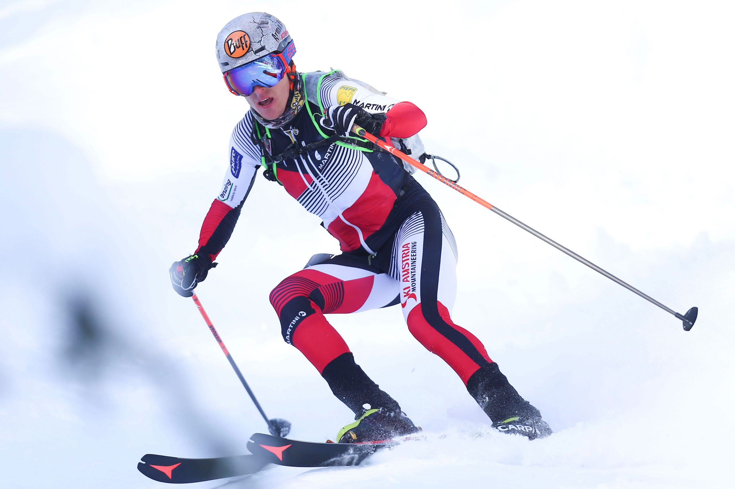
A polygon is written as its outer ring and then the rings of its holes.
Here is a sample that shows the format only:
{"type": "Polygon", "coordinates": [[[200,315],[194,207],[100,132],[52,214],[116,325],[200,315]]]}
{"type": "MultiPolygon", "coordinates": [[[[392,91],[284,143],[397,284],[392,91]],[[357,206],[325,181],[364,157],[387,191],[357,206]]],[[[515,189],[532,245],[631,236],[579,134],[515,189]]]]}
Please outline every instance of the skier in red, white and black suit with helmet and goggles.
{"type": "Polygon", "coordinates": [[[551,434],[541,413],[510,385],[472,333],[454,324],[457,248],[437,204],[400,159],[351,134],[357,124],[397,148],[422,155],[415,137],[426,116],[339,70],[298,73],[293,40],[264,12],[240,15],[217,37],[230,92],[251,110],[237,123],[221,191],[196,251],[171,266],[173,289],[191,297],[232,234],[258,167],[340,242],[315,255],[270,293],[284,340],[318,369],[356,417],[339,442],[379,441],[419,430],[395,399],[355,363],[324,314],[401,303],[409,331],[459,375],[501,432],[551,434]]]}

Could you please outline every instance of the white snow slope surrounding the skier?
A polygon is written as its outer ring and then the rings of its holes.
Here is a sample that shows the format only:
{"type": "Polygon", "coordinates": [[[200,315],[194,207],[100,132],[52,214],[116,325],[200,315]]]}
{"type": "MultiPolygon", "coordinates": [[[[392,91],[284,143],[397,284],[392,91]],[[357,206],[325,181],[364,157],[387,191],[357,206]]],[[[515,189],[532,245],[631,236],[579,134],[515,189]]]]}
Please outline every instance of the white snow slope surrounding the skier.
{"type": "MultiPolygon", "coordinates": [[[[426,440],[359,468],[271,467],[195,486],[729,487],[731,7],[497,1],[414,11],[378,2],[358,12],[326,3],[320,25],[362,22],[374,44],[324,49],[322,30],[304,23],[315,15],[306,2],[248,8],[282,17],[299,68],[334,65],[422,107],[427,150],[457,164],[467,189],[676,311],[698,306],[700,317],[684,332],[670,314],[420,178],[459,245],[456,323],[484,341],[556,433],[529,442],[492,432],[397,309],[331,316],[426,440]],[[389,6],[412,22],[398,31],[381,23],[389,6]],[[452,16],[475,49],[446,40],[437,18],[452,16]],[[412,65],[407,55],[356,55],[395,46],[413,49],[412,65]],[[442,60],[475,66],[477,50],[481,82],[467,95],[442,60]],[[472,104],[451,102],[468,96],[472,104]]],[[[240,454],[265,430],[167,275],[195,246],[245,109],[211,52],[243,8],[0,7],[0,487],[160,488],[135,469],[143,454],[240,454]],[[124,42],[100,42],[110,33],[124,42]],[[160,47],[171,40],[187,63],[160,47]],[[99,66],[110,53],[117,76],[99,66]],[[43,76],[29,73],[42,59],[43,76]]],[[[296,439],[333,438],[351,412],[284,344],[268,292],[312,253],[334,251],[314,217],[258,177],[221,265],[197,289],[265,412],[291,421],[296,439]]]]}

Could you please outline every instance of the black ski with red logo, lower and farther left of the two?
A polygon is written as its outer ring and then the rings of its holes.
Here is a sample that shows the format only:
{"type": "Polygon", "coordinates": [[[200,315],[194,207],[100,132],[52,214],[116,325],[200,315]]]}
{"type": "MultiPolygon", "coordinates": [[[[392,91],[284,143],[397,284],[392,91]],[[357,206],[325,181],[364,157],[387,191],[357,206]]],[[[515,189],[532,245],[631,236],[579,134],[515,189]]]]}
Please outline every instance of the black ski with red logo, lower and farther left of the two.
{"type": "Polygon", "coordinates": [[[205,480],[224,479],[254,474],[263,468],[267,461],[257,455],[237,455],[216,458],[179,458],[165,455],[143,455],[138,470],[158,482],[187,484],[205,480]]]}

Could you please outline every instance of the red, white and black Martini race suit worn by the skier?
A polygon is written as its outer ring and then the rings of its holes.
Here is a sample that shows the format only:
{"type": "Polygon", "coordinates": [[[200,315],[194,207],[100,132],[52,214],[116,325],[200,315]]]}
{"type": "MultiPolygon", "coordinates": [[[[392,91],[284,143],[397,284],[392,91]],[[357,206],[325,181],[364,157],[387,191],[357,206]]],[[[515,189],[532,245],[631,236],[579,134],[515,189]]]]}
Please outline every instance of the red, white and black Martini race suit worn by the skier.
{"type": "MultiPolygon", "coordinates": [[[[309,75],[306,104],[319,113],[309,75]]],[[[323,79],[318,95],[323,106],[351,102],[368,112],[385,112],[381,137],[409,137],[426,125],[414,104],[373,93],[340,72],[323,79]]],[[[261,149],[251,137],[254,130],[248,112],[232,132],[226,176],[197,249],[212,259],[229,239],[261,164],[261,149]]],[[[277,155],[293,143],[303,147],[319,140],[323,136],[304,108],[289,126],[270,129],[267,150],[277,155]]],[[[490,377],[505,379],[495,373],[497,366],[481,341],[451,319],[456,243],[437,204],[401,160],[332,143],[279,163],[276,175],[286,192],[321,217],[343,253],[285,278],[270,293],[270,302],[284,340],[306,355],[349,408],[357,413],[366,402],[373,407],[398,405],[354,363],[324,314],[400,303],[413,336],[454,369],[478,402],[490,377]]]]}

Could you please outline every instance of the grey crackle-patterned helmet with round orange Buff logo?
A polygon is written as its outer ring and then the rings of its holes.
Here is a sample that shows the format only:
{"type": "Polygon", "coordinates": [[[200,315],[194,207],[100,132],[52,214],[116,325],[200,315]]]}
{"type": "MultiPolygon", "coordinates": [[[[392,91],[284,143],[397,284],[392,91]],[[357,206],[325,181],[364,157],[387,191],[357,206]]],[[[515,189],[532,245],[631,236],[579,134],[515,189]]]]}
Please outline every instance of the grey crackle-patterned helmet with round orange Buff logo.
{"type": "MultiPolygon", "coordinates": [[[[281,21],[265,12],[250,12],[229,21],[217,36],[217,62],[224,73],[270,53],[282,52],[291,35],[281,21]]],[[[293,56],[295,49],[290,53],[293,56]]]]}

